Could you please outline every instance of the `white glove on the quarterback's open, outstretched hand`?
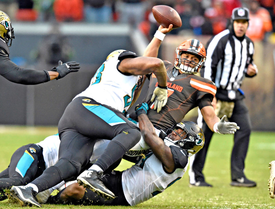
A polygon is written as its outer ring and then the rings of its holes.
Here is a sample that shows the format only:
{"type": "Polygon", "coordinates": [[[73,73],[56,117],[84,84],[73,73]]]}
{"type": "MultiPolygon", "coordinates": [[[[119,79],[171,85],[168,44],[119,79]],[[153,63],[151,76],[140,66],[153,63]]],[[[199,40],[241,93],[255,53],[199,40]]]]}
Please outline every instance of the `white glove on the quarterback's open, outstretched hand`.
{"type": "Polygon", "coordinates": [[[236,123],[233,122],[225,122],[226,115],[224,115],[220,122],[214,124],[214,132],[219,134],[234,134],[237,130],[240,129],[236,123]]]}

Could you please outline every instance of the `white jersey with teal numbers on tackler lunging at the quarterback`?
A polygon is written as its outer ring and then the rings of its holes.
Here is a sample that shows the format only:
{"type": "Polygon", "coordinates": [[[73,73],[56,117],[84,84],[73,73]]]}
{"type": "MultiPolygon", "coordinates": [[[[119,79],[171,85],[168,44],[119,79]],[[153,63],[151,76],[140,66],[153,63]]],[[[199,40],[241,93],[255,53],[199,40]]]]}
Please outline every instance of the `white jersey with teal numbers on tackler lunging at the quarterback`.
{"type": "Polygon", "coordinates": [[[90,86],[76,97],[89,97],[121,112],[127,111],[139,76],[124,75],[117,69],[117,65],[129,57],[137,56],[133,52],[124,51],[103,62],[92,78],[90,86]]]}

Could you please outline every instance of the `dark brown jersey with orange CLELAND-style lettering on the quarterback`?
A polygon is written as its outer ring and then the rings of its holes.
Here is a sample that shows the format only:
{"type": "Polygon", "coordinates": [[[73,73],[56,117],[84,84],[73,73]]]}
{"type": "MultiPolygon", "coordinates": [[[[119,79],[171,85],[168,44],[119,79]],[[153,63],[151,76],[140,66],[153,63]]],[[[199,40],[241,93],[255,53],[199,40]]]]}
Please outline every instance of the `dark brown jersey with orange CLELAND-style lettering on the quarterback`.
{"type": "Polygon", "coordinates": [[[148,118],[152,124],[166,131],[174,124],[182,121],[187,112],[195,107],[201,109],[211,106],[216,93],[216,86],[209,79],[194,74],[180,74],[178,69],[170,62],[164,61],[167,70],[168,100],[159,113],[152,110],[154,103],[150,103],[155,87],[158,85],[156,76],[150,75],[150,83],[145,101],[150,110],[148,118]]]}

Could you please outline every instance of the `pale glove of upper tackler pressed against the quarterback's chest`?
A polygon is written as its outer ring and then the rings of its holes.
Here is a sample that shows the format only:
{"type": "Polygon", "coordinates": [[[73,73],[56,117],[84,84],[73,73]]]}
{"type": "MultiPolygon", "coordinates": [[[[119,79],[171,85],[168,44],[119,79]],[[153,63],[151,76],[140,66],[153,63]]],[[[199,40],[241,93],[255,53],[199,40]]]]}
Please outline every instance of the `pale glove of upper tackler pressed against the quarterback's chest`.
{"type": "Polygon", "coordinates": [[[151,101],[154,101],[156,97],[155,103],[154,103],[154,110],[158,108],[157,112],[160,112],[161,108],[165,106],[167,102],[167,94],[168,94],[167,87],[163,89],[157,86],[155,88],[151,98],[151,101]]]}

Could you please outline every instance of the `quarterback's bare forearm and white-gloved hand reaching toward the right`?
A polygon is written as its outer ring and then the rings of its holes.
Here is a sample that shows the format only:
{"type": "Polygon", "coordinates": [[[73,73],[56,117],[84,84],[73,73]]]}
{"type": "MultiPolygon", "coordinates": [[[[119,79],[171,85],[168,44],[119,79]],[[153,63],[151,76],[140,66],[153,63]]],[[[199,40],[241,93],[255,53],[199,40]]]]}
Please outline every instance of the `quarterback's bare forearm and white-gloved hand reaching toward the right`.
{"type": "Polygon", "coordinates": [[[221,120],[216,116],[214,108],[212,106],[205,106],[201,109],[201,114],[205,120],[207,126],[216,133],[219,134],[234,134],[238,129],[234,122],[225,122],[226,116],[223,116],[221,120]]]}

